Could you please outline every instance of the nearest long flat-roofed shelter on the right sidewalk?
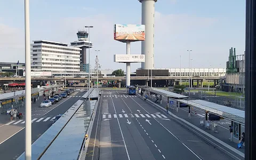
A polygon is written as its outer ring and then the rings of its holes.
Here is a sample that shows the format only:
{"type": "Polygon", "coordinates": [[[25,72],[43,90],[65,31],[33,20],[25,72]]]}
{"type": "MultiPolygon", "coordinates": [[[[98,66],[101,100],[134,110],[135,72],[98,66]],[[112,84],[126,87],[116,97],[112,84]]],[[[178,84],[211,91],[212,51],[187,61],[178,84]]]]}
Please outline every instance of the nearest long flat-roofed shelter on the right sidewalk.
{"type": "MultiPolygon", "coordinates": [[[[245,111],[218,105],[216,103],[204,100],[177,100],[178,106],[180,103],[185,103],[189,107],[189,116],[191,107],[205,111],[205,123],[209,121],[209,115],[217,115],[219,119],[228,119],[233,126],[233,138],[239,140],[241,137],[241,125],[245,124],[245,111]]],[[[177,107],[178,107],[177,106],[177,107]]],[[[207,126],[207,125],[206,125],[207,126]]]]}

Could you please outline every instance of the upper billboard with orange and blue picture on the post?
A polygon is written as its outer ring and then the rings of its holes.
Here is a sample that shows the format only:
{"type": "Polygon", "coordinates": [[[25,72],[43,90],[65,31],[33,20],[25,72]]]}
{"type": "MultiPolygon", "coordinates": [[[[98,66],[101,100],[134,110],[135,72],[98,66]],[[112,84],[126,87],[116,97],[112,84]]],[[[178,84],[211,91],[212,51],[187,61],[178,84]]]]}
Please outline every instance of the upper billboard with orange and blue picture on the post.
{"type": "Polygon", "coordinates": [[[114,39],[116,41],[145,41],[145,25],[114,25],[114,39]]]}

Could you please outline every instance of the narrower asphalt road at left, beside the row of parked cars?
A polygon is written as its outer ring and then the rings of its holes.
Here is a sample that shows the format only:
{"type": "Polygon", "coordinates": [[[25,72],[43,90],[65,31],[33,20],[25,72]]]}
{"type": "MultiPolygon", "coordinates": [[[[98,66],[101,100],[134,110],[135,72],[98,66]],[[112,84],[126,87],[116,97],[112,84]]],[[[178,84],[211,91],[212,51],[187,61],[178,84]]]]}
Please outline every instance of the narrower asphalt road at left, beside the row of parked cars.
{"type": "MultiPolygon", "coordinates": [[[[52,125],[51,119],[65,113],[76,101],[81,99],[83,93],[73,93],[70,97],[62,99],[52,108],[37,108],[32,111],[32,143],[52,125]],[[41,119],[41,120],[40,120],[41,119]]],[[[25,117],[24,117],[25,120],[25,117]]],[[[18,119],[19,121],[19,119],[18,119]]],[[[16,122],[18,122],[16,121],[16,122]]],[[[16,122],[3,127],[15,127],[19,132],[2,141],[0,144],[0,159],[16,159],[25,151],[25,123],[16,122]]],[[[3,130],[2,127],[0,130],[3,130]]]]}

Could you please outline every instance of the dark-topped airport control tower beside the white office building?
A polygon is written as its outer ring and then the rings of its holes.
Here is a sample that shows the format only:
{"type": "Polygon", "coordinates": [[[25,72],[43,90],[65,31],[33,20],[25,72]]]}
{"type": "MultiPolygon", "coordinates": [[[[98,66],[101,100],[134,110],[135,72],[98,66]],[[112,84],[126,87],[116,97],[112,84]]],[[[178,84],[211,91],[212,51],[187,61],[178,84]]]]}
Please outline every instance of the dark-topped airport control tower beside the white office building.
{"type": "MultiPolygon", "coordinates": [[[[86,30],[78,30],[76,33],[78,41],[71,42],[71,46],[79,47],[82,50],[80,51],[80,58],[81,58],[81,65],[86,64],[86,49],[89,49],[89,47],[93,47],[92,42],[89,42],[88,40],[88,33],[86,30]]],[[[89,63],[89,62],[88,62],[89,63]]]]}

